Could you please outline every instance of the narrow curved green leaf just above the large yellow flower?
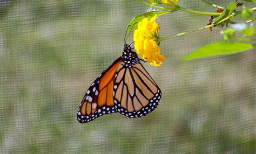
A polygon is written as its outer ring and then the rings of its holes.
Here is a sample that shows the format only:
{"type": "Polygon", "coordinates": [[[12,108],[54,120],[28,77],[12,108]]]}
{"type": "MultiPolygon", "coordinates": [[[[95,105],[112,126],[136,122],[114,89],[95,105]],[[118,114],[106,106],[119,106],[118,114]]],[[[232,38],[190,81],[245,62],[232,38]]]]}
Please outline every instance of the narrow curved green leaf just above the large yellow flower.
{"type": "Polygon", "coordinates": [[[134,17],[131,20],[129,25],[133,25],[134,23],[137,23],[137,24],[134,24],[133,28],[132,28],[132,26],[129,26],[127,32],[129,33],[132,29],[135,29],[138,26],[138,23],[141,22],[144,18],[151,19],[155,15],[161,16],[161,15],[165,15],[166,13],[170,13],[170,11],[151,11],[151,12],[147,12],[147,13],[144,13],[142,15],[139,15],[137,17],[134,17]]]}

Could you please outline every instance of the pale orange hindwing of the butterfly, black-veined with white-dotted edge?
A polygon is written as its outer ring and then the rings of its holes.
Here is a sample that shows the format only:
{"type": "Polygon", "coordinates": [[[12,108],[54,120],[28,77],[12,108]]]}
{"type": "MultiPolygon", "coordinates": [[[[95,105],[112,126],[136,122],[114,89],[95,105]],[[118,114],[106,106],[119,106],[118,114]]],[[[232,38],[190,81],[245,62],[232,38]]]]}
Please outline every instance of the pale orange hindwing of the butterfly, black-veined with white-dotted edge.
{"type": "Polygon", "coordinates": [[[114,82],[117,111],[131,118],[145,116],[157,107],[161,91],[140,62],[131,67],[125,65],[119,65],[114,82]]]}

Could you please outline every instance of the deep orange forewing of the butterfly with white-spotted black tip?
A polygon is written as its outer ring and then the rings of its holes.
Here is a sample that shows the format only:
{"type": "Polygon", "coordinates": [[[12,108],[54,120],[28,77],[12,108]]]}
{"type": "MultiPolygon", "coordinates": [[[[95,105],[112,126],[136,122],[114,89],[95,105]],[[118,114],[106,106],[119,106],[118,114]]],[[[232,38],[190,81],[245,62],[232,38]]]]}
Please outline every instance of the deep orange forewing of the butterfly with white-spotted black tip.
{"type": "Polygon", "coordinates": [[[113,101],[114,75],[121,63],[118,58],[92,83],[77,111],[77,120],[87,123],[104,114],[115,113],[113,101]]]}

